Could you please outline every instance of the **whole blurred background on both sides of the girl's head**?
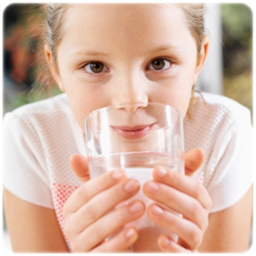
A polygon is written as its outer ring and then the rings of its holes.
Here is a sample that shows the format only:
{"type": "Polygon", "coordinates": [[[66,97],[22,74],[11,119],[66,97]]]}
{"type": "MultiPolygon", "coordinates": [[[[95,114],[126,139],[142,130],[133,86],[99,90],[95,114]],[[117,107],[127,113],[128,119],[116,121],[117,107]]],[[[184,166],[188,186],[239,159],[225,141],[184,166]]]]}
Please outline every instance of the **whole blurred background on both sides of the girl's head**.
{"type": "MultiPolygon", "coordinates": [[[[4,11],[4,113],[60,93],[44,78],[38,9],[38,4],[11,4],[4,11]]],[[[207,4],[206,17],[211,44],[196,88],[226,95],[252,110],[252,10],[245,4],[207,4]]]]}

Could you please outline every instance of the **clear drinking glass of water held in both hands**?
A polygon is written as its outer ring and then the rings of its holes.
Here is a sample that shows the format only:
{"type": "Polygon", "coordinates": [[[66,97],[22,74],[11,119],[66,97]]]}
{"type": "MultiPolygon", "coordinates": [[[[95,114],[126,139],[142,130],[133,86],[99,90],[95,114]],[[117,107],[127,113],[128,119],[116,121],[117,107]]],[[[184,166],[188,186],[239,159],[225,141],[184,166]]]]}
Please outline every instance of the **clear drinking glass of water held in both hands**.
{"type": "MultiPolygon", "coordinates": [[[[143,194],[142,186],[152,180],[156,166],[167,166],[184,173],[184,135],[182,115],[170,105],[160,103],[121,104],[96,109],[85,119],[86,150],[90,177],[122,168],[127,177],[141,184],[132,199],[140,199],[146,207],[152,202],[143,194]]],[[[167,230],[157,227],[145,213],[128,225],[139,231],[132,250],[145,252],[157,248],[159,234],[167,230]]],[[[173,239],[177,237],[169,234],[173,239]]]]}

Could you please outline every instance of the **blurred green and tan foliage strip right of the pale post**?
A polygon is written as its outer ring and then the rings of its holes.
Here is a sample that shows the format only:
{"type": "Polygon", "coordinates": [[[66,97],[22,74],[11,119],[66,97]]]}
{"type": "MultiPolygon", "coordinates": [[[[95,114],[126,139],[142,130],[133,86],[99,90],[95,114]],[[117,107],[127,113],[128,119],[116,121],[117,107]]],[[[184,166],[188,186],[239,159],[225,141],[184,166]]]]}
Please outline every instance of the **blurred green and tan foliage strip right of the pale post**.
{"type": "Polygon", "coordinates": [[[252,10],[245,4],[221,4],[223,93],[253,109],[252,10]]]}

